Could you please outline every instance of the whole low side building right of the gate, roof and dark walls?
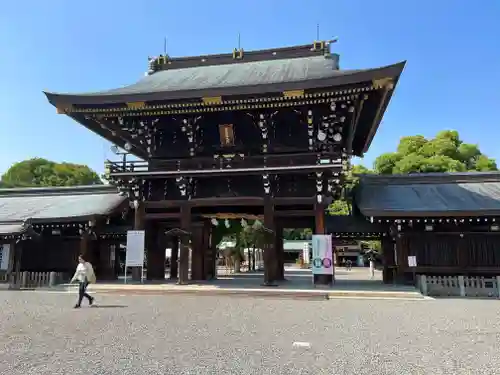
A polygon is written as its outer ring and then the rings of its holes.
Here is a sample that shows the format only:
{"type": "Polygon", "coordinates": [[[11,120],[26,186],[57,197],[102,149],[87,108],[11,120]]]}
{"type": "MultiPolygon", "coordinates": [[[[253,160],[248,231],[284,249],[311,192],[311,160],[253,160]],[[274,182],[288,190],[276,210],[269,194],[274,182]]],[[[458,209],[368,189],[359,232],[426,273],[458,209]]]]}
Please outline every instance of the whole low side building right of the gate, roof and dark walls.
{"type": "Polygon", "coordinates": [[[363,176],[354,211],[379,233],[386,282],[500,275],[498,172],[363,176]]]}

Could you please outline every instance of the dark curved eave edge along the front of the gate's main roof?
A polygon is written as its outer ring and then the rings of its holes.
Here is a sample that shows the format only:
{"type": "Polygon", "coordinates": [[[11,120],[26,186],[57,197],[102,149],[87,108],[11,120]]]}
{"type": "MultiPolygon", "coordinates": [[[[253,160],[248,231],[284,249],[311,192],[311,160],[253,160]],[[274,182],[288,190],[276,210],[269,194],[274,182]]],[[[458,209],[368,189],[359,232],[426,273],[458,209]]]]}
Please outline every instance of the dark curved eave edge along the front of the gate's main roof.
{"type": "Polygon", "coordinates": [[[321,78],[306,81],[260,84],[252,86],[234,86],[225,88],[207,88],[201,90],[158,91],[139,94],[62,94],[44,91],[48,101],[57,105],[96,105],[127,102],[148,102],[157,100],[184,100],[207,96],[255,95],[265,92],[283,92],[288,90],[321,89],[336,86],[348,86],[356,83],[369,82],[387,77],[397,78],[401,75],[406,61],[379,68],[353,71],[351,74],[331,78],[321,78]]]}

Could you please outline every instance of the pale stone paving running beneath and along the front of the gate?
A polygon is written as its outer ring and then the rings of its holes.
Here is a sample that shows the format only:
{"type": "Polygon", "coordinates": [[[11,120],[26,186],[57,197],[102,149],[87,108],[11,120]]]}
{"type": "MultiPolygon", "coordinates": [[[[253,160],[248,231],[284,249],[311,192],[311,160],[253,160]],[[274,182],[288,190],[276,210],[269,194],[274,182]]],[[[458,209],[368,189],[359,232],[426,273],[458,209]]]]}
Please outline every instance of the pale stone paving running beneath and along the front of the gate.
{"type": "MultiPolygon", "coordinates": [[[[206,282],[191,282],[188,285],[178,285],[174,281],[164,282],[144,281],[143,283],[110,282],[97,283],[89,286],[89,291],[98,293],[121,294],[198,294],[198,295],[253,295],[288,298],[424,298],[415,288],[382,283],[381,272],[376,271],[371,279],[366,268],[336,270],[336,281],[332,287],[314,286],[311,270],[287,268],[286,281],[276,286],[263,286],[264,275],[261,272],[245,272],[224,274],[216,280],[206,282]]],[[[62,285],[58,290],[72,291],[76,285],[62,285]]]]}

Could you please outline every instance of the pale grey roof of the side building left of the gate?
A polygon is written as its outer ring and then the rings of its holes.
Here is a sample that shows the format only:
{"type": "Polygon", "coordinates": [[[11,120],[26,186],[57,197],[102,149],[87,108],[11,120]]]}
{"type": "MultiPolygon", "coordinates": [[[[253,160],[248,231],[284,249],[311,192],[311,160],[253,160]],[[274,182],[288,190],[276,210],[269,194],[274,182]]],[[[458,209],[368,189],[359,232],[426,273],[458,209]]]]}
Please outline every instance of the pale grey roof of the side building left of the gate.
{"type": "Polygon", "coordinates": [[[109,215],[125,200],[111,185],[0,189],[0,234],[21,233],[27,223],[109,215]]]}

